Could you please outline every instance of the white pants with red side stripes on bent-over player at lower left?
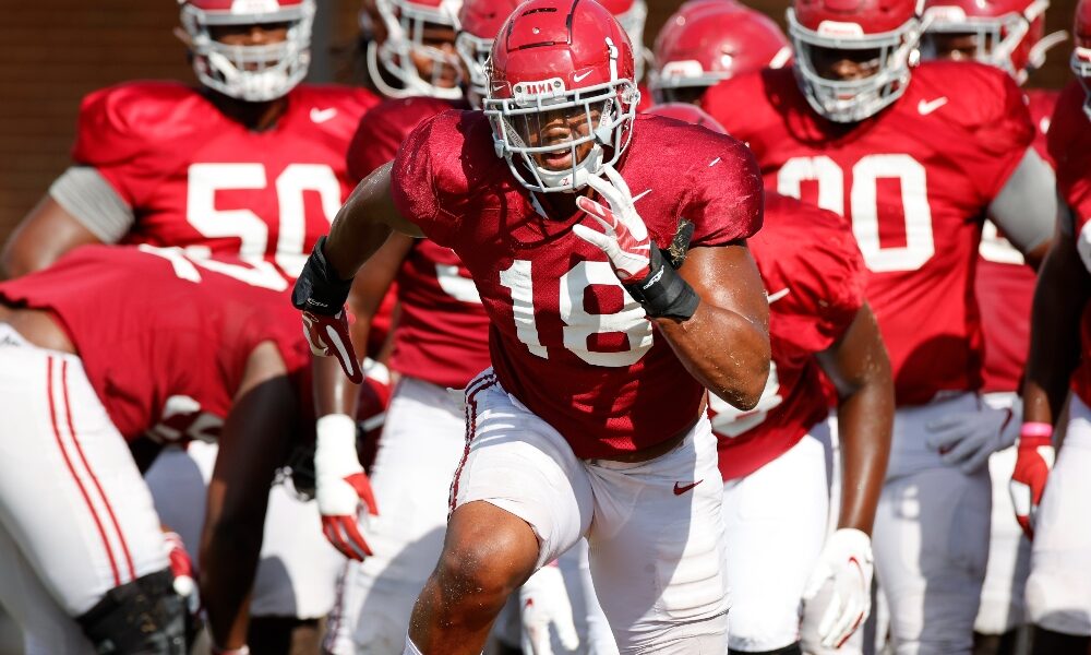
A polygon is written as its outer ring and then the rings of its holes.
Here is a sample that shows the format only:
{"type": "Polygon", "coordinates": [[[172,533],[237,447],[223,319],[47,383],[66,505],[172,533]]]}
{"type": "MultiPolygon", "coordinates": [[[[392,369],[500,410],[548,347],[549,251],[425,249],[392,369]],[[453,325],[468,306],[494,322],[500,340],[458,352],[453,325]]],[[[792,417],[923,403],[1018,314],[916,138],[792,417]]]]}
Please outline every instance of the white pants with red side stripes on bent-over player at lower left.
{"type": "Polygon", "coordinates": [[[166,569],[168,547],[147,486],[80,358],[0,329],[0,533],[17,546],[0,557],[8,560],[0,602],[32,641],[68,652],[60,644],[80,629],[65,617],[166,569]]]}

